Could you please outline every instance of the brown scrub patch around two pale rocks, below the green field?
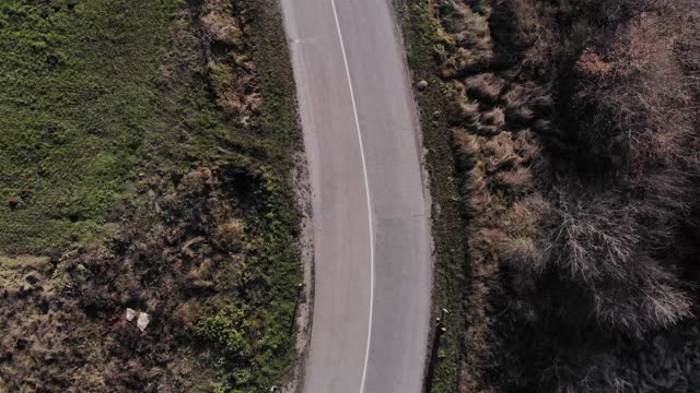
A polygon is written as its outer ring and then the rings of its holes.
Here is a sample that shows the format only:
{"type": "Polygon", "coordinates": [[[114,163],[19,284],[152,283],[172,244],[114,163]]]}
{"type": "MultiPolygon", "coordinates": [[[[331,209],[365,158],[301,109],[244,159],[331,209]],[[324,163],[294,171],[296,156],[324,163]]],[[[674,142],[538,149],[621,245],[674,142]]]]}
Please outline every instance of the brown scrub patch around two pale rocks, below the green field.
{"type": "Polygon", "coordinates": [[[50,260],[0,261],[3,389],[155,392],[207,382],[210,355],[192,326],[232,301],[249,240],[231,177],[255,182],[233,166],[147,179],[143,202],[106,241],[50,260]],[[151,315],[145,332],[126,320],[127,308],[151,315]]]}

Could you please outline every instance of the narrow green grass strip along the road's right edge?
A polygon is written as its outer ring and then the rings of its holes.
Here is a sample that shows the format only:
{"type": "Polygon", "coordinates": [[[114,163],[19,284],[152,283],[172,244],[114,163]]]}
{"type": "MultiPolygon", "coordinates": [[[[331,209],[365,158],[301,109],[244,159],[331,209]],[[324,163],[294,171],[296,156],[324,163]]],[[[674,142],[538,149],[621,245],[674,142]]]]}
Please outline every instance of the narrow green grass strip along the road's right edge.
{"type": "MultiPolygon", "coordinates": [[[[467,260],[466,225],[462,211],[463,196],[451,143],[450,127],[443,110],[448,102],[439,78],[434,57],[438,31],[429,11],[430,1],[404,0],[401,10],[408,63],[413,81],[425,80],[429,86],[417,93],[421,112],[423,144],[428,150],[427,166],[433,200],[433,240],[435,271],[433,310],[448,309],[445,318],[448,333],[442,337],[435,365],[432,392],[453,393],[458,390],[460,365],[464,361],[464,332],[467,329],[468,301],[464,294],[469,286],[471,270],[467,260]]],[[[438,317],[435,311],[433,317],[438,317]]]]}

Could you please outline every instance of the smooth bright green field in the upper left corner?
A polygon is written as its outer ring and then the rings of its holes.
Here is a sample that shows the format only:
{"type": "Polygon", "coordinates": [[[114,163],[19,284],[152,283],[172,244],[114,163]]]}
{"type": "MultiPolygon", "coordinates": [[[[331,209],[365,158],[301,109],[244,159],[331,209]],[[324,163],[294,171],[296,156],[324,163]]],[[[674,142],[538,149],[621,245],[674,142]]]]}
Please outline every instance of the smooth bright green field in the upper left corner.
{"type": "Polygon", "coordinates": [[[83,1],[58,12],[26,3],[0,5],[5,253],[88,236],[143,166],[142,146],[178,126],[161,116],[154,88],[177,1],[83,1]]]}

